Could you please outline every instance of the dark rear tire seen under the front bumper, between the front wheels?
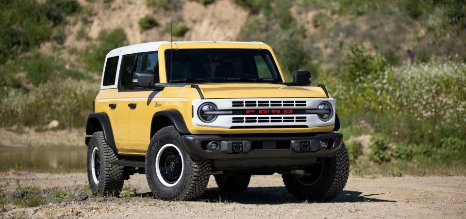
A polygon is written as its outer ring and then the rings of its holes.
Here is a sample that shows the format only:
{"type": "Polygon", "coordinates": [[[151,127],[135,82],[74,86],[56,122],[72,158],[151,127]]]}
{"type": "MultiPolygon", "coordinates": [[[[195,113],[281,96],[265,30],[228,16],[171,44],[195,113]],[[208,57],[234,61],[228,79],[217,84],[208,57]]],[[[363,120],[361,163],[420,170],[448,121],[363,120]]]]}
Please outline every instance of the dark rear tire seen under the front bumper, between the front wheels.
{"type": "Polygon", "coordinates": [[[214,176],[218,188],[224,192],[242,192],[248,188],[251,180],[251,175],[225,176],[216,174],[214,176]]]}

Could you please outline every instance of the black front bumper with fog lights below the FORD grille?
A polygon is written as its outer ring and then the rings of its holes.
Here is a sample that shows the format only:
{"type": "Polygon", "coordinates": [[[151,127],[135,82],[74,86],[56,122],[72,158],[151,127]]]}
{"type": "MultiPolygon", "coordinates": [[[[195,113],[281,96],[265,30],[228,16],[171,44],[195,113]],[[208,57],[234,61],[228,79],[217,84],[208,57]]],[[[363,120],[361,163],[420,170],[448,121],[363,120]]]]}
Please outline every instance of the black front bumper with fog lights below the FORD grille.
{"type": "MultiPolygon", "coordinates": [[[[214,170],[257,172],[279,172],[284,169],[296,169],[311,166],[317,157],[331,157],[341,147],[343,135],[323,133],[308,136],[289,135],[270,136],[238,136],[224,137],[218,135],[185,135],[182,136],[187,153],[197,160],[212,160],[214,170]],[[321,148],[319,142],[328,142],[321,148]],[[216,141],[217,151],[209,150],[209,143],[216,141]],[[309,150],[301,151],[301,143],[308,142],[309,150]],[[234,143],[242,143],[240,152],[232,151],[234,143]]],[[[304,145],[305,146],[305,145],[304,145]]]]}

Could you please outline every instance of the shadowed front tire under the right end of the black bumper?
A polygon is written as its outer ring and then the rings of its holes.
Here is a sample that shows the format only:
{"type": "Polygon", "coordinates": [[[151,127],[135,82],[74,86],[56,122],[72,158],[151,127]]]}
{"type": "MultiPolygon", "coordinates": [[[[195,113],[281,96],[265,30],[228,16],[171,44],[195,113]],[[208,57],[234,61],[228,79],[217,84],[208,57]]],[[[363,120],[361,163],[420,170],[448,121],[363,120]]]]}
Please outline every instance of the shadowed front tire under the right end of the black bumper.
{"type": "Polygon", "coordinates": [[[345,188],[350,161],[345,143],[333,157],[319,157],[310,176],[282,175],[286,189],[299,200],[331,201],[345,188]],[[319,162],[320,161],[320,162],[319,162]]]}

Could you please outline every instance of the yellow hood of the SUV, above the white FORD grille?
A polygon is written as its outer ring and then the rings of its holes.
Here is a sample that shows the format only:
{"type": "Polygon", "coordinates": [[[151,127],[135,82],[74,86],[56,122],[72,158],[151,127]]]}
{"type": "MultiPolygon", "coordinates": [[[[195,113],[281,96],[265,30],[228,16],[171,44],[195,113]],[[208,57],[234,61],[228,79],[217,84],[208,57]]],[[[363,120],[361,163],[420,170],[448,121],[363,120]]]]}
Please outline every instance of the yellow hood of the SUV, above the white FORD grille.
{"type": "Polygon", "coordinates": [[[270,83],[198,84],[204,98],[326,98],[319,87],[297,87],[270,83]]]}

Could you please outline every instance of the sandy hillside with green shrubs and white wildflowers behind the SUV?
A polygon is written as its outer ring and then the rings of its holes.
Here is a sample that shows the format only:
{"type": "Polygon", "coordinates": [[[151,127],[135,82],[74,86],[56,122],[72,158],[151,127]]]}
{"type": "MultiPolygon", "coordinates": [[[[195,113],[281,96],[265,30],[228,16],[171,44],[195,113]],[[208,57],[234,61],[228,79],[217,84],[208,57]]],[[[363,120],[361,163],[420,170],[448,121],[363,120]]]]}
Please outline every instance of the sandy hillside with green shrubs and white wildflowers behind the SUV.
{"type": "Polygon", "coordinates": [[[263,41],[288,79],[311,70],[345,138],[368,136],[349,141],[353,172],[466,166],[465,0],[4,0],[1,128],[82,128],[105,54],[170,23],[173,40],[263,41]]]}

